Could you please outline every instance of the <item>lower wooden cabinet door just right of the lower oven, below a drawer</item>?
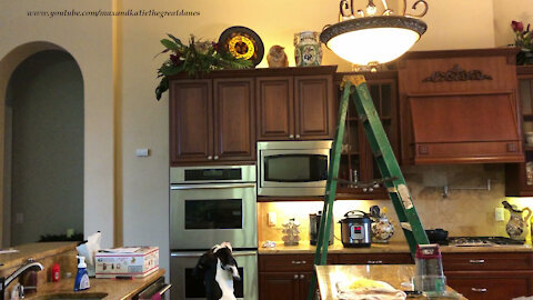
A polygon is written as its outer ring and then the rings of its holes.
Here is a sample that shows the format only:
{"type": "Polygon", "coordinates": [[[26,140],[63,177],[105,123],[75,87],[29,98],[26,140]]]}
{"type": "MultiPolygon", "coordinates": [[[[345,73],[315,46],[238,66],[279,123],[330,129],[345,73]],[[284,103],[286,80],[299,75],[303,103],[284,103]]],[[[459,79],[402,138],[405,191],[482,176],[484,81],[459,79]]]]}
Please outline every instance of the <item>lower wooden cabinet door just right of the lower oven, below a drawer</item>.
{"type": "Polygon", "coordinates": [[[260,300],[299,300],[299,274],[286,272],[259,273],[260,300]]]}

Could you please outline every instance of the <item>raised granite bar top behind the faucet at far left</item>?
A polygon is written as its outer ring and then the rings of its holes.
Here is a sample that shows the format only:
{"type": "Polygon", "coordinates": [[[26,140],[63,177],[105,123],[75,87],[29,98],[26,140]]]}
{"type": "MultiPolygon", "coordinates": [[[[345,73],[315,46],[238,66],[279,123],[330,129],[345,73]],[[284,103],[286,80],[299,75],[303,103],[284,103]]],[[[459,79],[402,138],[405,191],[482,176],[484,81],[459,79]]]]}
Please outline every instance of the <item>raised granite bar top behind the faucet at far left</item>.
{"type": "Polygon", "coordinates": [[[36,242],[16,246],[12,249],[19,250],[18,252],[0,254],[0,263],[3,264],[0,271],[24,264],[28,258],[39,261],[72,250],[77,246],[78,242],[36,242]]]}

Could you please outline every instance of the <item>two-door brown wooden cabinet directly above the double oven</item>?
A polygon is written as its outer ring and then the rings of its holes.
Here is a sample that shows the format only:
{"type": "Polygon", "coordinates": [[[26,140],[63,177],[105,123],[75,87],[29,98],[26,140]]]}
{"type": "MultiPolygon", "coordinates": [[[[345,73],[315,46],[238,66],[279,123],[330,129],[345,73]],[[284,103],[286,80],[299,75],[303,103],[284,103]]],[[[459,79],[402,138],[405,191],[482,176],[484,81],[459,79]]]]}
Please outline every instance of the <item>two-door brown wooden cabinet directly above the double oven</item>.
{"type": "Polygon", "coordinates": [[[251,78],[172,80],[171,166],[254,162],[253,84],[251,78]]]}

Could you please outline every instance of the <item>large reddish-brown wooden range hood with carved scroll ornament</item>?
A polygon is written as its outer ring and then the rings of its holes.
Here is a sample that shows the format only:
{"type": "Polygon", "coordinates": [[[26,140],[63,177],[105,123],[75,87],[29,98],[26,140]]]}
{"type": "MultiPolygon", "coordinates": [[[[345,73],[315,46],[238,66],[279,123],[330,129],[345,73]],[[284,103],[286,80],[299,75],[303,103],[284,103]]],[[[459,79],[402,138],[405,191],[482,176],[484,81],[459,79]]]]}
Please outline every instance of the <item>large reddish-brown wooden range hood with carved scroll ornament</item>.
{"type": "Polygon", "coordinates": [[[523,161],[513,48],[410,52],[399,62],[403,163],[523,161]]]}

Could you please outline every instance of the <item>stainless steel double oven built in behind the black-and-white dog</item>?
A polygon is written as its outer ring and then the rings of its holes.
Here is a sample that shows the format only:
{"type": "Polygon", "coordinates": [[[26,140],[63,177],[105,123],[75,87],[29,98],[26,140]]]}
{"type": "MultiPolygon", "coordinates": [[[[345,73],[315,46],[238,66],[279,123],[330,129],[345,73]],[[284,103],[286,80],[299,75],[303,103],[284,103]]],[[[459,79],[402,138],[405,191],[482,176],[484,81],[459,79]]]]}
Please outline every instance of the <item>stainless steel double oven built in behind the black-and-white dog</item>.
{"type": "Polygon", "coordinates": [[[255,166],[180,167],[170,170],[170,279],[172,300],[205,299],[199,258],[230,241],[241,274],[238,299],[258,299],[255,166]],[[180,288],[181,287],[181,288],[180,288]]]}

